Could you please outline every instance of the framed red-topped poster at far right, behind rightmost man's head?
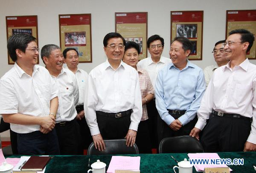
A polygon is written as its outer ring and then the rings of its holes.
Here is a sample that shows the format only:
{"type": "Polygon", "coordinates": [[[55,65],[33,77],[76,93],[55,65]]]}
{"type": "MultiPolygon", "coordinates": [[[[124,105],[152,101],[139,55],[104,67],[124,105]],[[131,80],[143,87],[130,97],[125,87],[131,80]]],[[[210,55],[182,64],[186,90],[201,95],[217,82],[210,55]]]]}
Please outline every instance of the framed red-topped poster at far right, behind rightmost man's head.
{"type": "MultiPolygon", "coordinates": [[[[234,29],[247,29],[254,35],[256,35],[256,10],[227,10],[226,16],[226,39],[228,33],[234,29]]],[[[250,52],[247,52],[248,59],[256,59],[256,43],[253,42],[253,46],[250,52]]]]}

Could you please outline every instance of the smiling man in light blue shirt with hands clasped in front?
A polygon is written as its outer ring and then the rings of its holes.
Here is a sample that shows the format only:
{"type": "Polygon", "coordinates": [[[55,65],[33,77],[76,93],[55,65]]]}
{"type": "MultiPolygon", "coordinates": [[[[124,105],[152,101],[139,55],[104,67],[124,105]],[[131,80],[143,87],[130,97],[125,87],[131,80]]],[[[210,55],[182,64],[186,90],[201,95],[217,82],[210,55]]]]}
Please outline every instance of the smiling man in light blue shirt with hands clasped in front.
{"type": "Polygon", "coordinates": [[[163,138],[189,135],[197,122],[196,112],[205,91],[204,72],[187,60],[192,43],[176,37],[169,52],[172,63],[161,69],[156,81],[158,142],[163,138]]]}

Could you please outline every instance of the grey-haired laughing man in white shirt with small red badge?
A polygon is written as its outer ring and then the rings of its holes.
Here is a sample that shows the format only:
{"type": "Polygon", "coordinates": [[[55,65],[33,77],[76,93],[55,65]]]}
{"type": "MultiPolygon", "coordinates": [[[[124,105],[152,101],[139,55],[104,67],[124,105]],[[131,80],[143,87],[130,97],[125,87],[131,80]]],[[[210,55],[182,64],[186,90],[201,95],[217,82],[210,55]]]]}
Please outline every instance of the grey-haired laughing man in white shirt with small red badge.
{"type": "Polygon", "coordinates": [[[59,89],[59,107],[56,115],[56,132],[61,155],[79,154],[79,124],[76,122],[76,104],[79,89],[76,76],[69,69],[62,68],[64,56],[61,48],[47,44],[41,50],[41,58],[45,63],[56,86],[59,89]]]}

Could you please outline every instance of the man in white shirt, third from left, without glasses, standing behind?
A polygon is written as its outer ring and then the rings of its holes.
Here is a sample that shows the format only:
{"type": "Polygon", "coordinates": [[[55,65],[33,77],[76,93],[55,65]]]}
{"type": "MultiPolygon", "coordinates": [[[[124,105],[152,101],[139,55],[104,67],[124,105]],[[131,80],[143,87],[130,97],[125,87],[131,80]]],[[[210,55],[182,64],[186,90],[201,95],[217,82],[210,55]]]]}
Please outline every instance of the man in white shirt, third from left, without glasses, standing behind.
{"type": "Polygon", "coordinates": [[[67,64],[67,68],[72,71],[76,75],[76,80],[78,83],[79,88],[79,100],[78,104],[76,105],[76,120],[80,127],[80,133],[81,133],[81,146],[80,153],[83,155],[84,149],[87,149],[92,142],[91,136],[90,136],[90,130],[85,120],[85,113],[84,113],[84,92],[85,92],[85,86],[86,82],[88,80],[88,74],[82,69],[78,68],[79,64],[79,54],[78,51],[74,48],[66,48],[63,51],[64,56],[64,63],[67,64]]]}

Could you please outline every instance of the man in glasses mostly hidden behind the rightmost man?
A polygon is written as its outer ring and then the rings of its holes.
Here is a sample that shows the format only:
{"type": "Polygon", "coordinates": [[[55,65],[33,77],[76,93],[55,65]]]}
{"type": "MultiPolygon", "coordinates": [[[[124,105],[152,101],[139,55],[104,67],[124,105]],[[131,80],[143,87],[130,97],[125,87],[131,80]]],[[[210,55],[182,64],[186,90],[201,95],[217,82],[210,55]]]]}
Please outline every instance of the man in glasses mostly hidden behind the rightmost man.
{"type": "Polygon", "coordinates": [[[224,66],[228,63],[229,60],[226,59],[225,56],[225,51],[224,51],[224,46],[223,43],[225,43],[226,40],[221,40],[215,43],[215,47],[212,51],[214,61],[216,62],[215,65],[207,66],[204,69],[204,78],[205,78],[205,83],[206,86],[208,86],[209,81],[212,78],[213,72],[215,69],[217,69],[220,66],[224,66]]]}

